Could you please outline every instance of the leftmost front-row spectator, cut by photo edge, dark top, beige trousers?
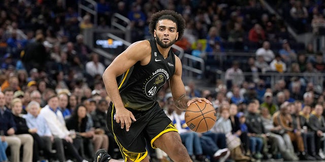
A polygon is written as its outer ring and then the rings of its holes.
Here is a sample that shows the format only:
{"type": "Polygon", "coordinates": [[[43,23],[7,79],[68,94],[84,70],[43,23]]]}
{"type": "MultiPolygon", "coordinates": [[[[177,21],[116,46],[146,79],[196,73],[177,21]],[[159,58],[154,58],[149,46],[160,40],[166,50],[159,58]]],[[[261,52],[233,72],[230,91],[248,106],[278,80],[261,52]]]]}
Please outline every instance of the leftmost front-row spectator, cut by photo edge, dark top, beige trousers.
{"type": "Polygon", "coordinates": [[[23,162],[32,161],[32,143],[33,139],[29,134],[16,134],[16,123],[14,115],[5,107],[5,95],[0,92],[0,131],[4,132],[5,141],[10,146],[12,162],[20,161],[20,146],[23,146],[23,162]]]}

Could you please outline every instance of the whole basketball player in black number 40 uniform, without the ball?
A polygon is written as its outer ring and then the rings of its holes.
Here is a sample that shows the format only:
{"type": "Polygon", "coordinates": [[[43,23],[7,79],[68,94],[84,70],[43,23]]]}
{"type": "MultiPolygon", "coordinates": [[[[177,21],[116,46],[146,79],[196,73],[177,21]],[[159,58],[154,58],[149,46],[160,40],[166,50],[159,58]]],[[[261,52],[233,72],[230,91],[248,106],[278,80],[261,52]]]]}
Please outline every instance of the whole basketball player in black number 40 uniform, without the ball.
{"type": "MultiPolygon", "coordinates": [[[[174,11],[153,14],[149,30],[154,38],[129,46],[103,74],[112,99],[107,126],[125,161],[149,162],[145,140],[151,147],[165,151],[173,161],[191,161],[177,129],[156,101],[157,92],[169,82],[178,108],[185,110],[195,101],[211,104],[205,98],[189,100],[185,95],[181,61],[171,50],[183,36],[184,28],[184,19],[174,11]],[[117,84],[116,77],[121,74],[117,84]]],[[[95,162],[117,161],[103,149],[94,158],[95,162]]]]}

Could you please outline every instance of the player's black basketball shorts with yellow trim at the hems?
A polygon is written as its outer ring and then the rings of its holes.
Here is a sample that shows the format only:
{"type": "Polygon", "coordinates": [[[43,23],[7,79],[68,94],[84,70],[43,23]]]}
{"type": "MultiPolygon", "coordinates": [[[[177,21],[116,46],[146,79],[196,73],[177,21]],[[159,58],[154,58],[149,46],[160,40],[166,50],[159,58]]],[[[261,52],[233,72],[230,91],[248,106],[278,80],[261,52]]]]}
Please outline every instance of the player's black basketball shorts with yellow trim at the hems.
{"type": "Polygon", "coordinates": [[[155,148],[153,145],[155,139],[170,131],[177,132],[171,119],[157,102],[146,111],[127,109],[137,119],[137,121],[132,122],[128,132],[126,132],[125,126],[121,129],[120,123],[116,123],[115,107],[112,103],[107,111],[107,127],[114,135],[125,161],[131,159],[136,162],[144,159],[148,154],[146,140],[150,141],[152,148],[155,148]]]}

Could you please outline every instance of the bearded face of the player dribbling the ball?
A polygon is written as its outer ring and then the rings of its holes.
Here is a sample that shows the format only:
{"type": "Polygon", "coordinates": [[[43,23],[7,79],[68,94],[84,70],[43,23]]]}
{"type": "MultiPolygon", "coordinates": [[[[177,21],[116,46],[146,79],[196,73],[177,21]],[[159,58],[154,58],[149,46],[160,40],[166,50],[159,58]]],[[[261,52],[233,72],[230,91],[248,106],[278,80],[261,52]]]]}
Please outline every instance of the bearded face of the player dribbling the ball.
{"type": "Polygon", "coordinates": [[[154,37],[160,47],[169,48],[176,42],[178,38],[176,27],[176,23],[171,20],[163,19],[157,22],[154,37]]]}

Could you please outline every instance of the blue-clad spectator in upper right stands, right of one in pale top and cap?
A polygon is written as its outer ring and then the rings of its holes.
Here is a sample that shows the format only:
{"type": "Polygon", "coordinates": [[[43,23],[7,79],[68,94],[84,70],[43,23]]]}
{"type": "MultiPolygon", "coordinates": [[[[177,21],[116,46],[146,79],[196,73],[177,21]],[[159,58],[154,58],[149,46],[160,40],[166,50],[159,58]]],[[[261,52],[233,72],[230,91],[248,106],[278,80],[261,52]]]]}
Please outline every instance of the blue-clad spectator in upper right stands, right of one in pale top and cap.
{"type": "Polygon", "coordinates": [[[279,51],[279,54],[287,65],[290,65],[291,62],[297,61],[296,51],[290,48],[287,39],[282,41],[282,49],[279,51]]]}

